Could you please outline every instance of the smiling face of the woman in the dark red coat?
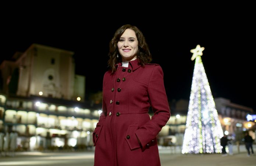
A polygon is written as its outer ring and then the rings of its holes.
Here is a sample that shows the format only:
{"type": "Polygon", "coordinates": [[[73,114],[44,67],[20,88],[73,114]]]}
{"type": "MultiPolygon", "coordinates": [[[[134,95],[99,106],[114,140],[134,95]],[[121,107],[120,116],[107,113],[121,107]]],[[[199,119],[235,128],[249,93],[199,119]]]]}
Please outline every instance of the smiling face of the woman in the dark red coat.
{"type": "Polygon", "coordinates": [[[126,29],[117,43],[119,54],[122,56],[122,62],[137,59],[138,39],[135,31],[126,29]]]}

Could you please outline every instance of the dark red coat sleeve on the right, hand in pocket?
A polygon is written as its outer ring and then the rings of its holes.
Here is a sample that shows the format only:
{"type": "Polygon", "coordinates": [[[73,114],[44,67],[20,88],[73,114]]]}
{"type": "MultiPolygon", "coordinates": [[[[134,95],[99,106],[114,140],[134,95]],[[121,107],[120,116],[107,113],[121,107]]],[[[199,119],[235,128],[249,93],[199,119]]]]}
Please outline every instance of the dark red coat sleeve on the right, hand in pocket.
{"type": "Polygon", "coordinates": [[[163,70],[159,65],[153,69],[150,76],[148,95],[154,115],[149,122],[135,132],[142,148],[145,148],[148,143],[156,138],[171,116],[164,88],[163,70]]]}

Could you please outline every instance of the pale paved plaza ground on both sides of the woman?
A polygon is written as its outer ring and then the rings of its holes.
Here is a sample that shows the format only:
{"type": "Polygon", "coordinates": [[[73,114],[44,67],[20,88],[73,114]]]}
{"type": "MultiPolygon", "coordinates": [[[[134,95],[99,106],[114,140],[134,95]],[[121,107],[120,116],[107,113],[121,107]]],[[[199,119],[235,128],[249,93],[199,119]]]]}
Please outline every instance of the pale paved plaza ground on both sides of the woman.
{"type": "MultiPolygon", "coordinates": [[[[256,145],[254,145],[256,151],[256,145]]],[[[234,155],[181,154],[180,147],[159,147],[161,166],[255,166],[256,155],[247,156],[244,145],[234,155]]],[[[0,156],[0,166],[93,166],[94,151],[15,152],[0,156]],[[13,156],[14,155],[14,156],[13,156]]]]}

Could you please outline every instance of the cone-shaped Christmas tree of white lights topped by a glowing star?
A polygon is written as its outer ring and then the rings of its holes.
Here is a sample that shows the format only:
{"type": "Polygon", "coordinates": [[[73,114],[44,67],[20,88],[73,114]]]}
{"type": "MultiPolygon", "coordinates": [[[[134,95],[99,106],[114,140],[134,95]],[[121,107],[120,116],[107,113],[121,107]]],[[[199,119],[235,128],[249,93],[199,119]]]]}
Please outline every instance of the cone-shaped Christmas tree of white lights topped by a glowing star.
{"type": "Polygon", "coordinates": [[[221,153],[220,138],[223,137],[223,131],[201,59],[204,49],[197,45],[190,50],[193,53],[191,60],[196,61],[182,154],[221,153]]]}

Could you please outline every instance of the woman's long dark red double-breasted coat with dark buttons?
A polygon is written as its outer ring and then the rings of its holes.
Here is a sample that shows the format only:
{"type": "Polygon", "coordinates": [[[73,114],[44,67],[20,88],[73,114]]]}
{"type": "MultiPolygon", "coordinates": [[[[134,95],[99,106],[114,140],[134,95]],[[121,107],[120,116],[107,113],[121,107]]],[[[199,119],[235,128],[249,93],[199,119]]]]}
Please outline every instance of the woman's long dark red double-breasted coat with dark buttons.
{"type": "Polygon", "coordinates": [[[119,63],[117,71],[107,71],[103,78],[102,113],[93,132],[94,165],[160,166],[156,137],[169,118],[161,67],[142,67],[138,60],[128,67],[119,63]]]}

